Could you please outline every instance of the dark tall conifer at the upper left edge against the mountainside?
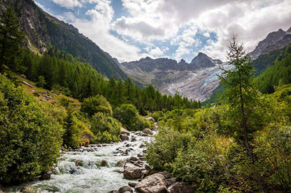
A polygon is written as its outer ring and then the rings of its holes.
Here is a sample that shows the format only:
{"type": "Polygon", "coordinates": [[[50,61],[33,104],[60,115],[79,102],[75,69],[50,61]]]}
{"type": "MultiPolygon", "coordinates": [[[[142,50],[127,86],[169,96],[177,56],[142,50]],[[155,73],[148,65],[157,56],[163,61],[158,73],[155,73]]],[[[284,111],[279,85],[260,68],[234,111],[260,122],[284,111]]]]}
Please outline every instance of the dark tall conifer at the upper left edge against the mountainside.
{"type": "Polygon", "coordinates": [[[19,31],[19,26],[13,9],[8,7],[0,16],[0,72],[3,71],[3,64],[11,64],[11,59],[24,40],[24,33],[19,31]]]}

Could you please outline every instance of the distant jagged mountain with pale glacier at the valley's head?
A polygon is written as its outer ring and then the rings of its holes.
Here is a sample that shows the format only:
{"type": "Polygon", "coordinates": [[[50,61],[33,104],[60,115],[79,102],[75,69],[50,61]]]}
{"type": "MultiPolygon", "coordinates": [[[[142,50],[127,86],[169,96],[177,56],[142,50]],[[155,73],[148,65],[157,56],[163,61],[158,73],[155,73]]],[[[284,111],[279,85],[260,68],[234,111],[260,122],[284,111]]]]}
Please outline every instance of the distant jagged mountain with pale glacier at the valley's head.
{"type": "Polygon", "coordinates": [[[206,54],[199,53],[191,63],[168,58],[142,58],[139,61],[119,64],[132,79],[143,85],[152,84],[163,94],[174,95],[179,91],[182,96],[204,101],[218,86],[216,73],[219,73],[220,60],[213,60],[206,54]]]}

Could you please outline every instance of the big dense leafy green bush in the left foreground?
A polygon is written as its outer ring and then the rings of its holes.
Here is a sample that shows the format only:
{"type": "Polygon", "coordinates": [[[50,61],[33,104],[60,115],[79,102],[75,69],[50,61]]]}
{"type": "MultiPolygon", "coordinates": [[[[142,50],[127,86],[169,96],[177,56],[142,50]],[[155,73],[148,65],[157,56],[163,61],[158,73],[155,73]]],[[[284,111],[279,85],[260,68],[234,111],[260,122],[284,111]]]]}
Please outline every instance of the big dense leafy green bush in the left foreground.
{"type": "Polygon", "coordinates": [[[47,171],[57,162],[62,127],[3,75],[0,104],[0,183],[27,181],[47,171]]]}

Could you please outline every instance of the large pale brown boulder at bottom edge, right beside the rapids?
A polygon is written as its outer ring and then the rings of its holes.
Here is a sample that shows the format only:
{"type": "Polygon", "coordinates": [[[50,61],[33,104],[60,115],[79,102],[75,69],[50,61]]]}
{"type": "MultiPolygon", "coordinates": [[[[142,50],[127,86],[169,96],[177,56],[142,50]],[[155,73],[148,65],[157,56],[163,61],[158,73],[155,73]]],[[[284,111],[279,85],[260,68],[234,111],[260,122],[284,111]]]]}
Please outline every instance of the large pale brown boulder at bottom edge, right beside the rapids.
{"type": "Polygon", "coordinates": [[[134,189],[140,193],[165,193],[167,184],[164,179],[162,174],[153,174],[145,177],[134,189]]]}

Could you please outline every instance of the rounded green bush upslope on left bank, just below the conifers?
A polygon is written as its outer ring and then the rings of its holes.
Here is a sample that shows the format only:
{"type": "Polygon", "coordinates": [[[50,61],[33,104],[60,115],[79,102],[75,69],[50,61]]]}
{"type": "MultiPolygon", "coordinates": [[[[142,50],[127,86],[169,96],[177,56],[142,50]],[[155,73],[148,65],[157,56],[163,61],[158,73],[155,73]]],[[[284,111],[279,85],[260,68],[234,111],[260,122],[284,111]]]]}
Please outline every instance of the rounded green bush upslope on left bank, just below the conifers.
{"type": "Polygon", "coordinates": [[[104,113],[112,116],[112,107],[104,96],[97,95],[84,99],[81,103],[81,112],[92,116],[95,113],[104,113]]]}

